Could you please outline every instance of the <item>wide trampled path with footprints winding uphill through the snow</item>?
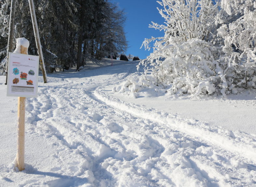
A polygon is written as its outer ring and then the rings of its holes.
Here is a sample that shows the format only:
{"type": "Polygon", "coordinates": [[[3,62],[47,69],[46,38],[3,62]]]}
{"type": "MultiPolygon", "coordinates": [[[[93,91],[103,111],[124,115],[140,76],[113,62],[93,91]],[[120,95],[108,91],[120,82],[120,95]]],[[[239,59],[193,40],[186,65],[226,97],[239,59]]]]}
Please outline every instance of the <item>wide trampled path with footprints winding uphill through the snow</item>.
{"type": "Polygon", "coordinates": [[[107,94],[128,75],[49,79],[26,105],[26,136],[47,140],[49,166],[2,168],[0,186],[256,186],[255,137],[107,94]]]}

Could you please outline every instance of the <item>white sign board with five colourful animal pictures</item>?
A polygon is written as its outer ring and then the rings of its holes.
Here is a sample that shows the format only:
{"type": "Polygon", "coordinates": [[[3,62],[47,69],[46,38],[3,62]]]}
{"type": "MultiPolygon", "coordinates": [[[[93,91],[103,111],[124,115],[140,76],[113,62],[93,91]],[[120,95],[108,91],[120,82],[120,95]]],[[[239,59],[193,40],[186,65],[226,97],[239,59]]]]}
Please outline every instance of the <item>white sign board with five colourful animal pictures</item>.
{"type": "Polygon", "coordinates": [[[7,96],[37,97],[39,56],[9,53],[7,96]]]}

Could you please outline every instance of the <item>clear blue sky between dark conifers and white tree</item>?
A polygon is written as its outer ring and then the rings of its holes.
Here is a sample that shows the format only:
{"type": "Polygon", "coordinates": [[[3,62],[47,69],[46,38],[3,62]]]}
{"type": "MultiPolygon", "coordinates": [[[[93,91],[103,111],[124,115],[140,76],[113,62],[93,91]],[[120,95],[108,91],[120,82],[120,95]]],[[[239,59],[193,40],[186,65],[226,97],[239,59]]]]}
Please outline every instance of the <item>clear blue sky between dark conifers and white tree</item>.
{"type": "Polygon", "coordinates": [[[145,38],[151,36],[159,37],[164,36],[163,31],[149,28],[151,21],[162,24],[164,19],[159,14],[156,7],[161,7],[156,0],[110,0],[116,3],[126,13],[125,32],[129,48],[126,55],[139,56],[144,59],[152,51],[144,48],[140,49],[145,38]]]}

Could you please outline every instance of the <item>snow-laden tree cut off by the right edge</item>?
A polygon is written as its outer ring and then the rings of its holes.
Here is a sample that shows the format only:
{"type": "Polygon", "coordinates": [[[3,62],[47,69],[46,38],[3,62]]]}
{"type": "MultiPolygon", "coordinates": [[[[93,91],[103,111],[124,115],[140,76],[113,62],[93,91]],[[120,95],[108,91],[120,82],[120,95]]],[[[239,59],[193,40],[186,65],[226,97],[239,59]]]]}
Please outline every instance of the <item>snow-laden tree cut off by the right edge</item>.
{"type": "Polygon", "coordinates": [[[223,39],[222,61],[229,63],[227,79],[234,87],[255,88],[256,71],[256,1],[221,1],[217,30],[223,39]]]}

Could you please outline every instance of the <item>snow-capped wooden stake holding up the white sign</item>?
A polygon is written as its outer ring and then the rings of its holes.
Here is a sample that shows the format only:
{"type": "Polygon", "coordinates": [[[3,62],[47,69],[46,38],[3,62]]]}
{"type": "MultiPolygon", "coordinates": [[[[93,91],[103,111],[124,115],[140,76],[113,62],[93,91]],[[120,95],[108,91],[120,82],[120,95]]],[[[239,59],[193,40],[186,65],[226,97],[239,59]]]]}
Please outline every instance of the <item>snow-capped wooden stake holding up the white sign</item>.
{"type": "MultiPolygon", "coordinates": [[[[29,41],[25,38],[16,39],[15,53],[28,54],[29,41]]],[[[16,155],[16,167],[20,171],[25,169],[25,106],[26,97],[18,97],[18,129],[17,129],[17,155],[16,155]]]]}

